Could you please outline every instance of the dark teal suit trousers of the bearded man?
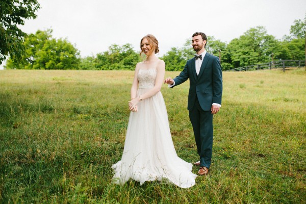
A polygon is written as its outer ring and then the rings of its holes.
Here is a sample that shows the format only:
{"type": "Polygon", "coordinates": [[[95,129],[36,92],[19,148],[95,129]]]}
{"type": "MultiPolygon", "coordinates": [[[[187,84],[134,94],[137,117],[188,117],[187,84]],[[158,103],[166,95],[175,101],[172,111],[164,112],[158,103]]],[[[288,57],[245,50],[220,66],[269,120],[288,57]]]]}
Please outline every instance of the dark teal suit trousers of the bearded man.
{"type": "Polygon", "coordinates": [[[213,114],[203,111],[196,97],[192,110],[189,111],[200,166],[209,168],[213,152],[213,114]]]}

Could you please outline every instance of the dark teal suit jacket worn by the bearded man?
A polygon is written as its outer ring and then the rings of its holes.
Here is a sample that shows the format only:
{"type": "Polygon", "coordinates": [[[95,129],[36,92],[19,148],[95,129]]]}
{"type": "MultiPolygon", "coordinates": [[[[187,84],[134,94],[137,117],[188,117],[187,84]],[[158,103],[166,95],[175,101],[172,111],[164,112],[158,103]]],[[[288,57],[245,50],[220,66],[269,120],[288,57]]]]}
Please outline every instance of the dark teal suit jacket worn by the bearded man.
{"type": "Polygon", "coordinates": [[[203,111],[210,111],[213,103],[221,105],[222,69],[218,57],[206,53],[199,75],[196,75],[195,71],[195,58],[188,60],[180,75],[173,79],[174,86],[188,79],[190,88],[187,109],[189,111],[192,110],[196,97],[203,111]]]}

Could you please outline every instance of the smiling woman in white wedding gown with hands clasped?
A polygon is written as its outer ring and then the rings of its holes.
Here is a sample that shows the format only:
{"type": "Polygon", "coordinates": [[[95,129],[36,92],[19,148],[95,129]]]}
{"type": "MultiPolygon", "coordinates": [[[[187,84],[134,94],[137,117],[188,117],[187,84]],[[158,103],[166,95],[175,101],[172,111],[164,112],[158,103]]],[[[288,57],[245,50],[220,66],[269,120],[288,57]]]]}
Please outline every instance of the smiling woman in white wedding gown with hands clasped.
{"type": "Polygon", "coordinates": [[[172,142],[166,105],[160,92],[165,62],[155,54],[158,40],[146,35],[140,41],[143,62],[135,68],[131,88],[131,110],[121,161],[112,166],[113,181],[124,184],[129,179],[140,182],[166,179],[176,186],[195,185],[192,164],[177,157],[172,142]]]}

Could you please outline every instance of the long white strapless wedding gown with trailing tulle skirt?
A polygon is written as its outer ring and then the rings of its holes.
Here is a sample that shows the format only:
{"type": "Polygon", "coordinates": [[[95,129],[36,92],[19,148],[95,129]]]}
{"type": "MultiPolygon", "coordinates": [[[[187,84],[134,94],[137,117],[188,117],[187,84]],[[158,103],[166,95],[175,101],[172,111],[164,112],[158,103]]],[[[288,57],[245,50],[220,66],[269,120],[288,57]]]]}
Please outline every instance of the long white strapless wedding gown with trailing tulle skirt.
{"type": "MultiPolygon", "coordinates": [[[[138,72],[137,96],[154,87],[156,69],[138,72]]],[[[129,179],[140,182],[161,181],[189,188],[195,185],[192,164],[177,157],[172,142],[165,101],[161,92],[138,103],[127,125],[121,161],[112,166],[113,181],[124,184],[129,179]]]]}

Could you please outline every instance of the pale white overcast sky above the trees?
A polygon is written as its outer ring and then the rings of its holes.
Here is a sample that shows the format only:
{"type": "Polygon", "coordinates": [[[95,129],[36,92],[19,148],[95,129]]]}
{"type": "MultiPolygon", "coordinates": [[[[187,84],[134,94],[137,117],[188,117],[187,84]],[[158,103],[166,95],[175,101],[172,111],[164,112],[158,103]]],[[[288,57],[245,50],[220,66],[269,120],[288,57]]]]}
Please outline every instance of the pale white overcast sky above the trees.
{"type": "MultiPolygon", "coordinates": [[[[160,54],[181,47],[194,32],[230,42],[262,25],[281,39],[306,14],[305,0],[39,0],[37,18],[20,27],[26,33],[53,29],[67,38],[82,57],[104,52],[112,44],[131,43],[153,34],[160,54]]],[[[208,39],[209,42],[209,39],[208,39]]]]}

